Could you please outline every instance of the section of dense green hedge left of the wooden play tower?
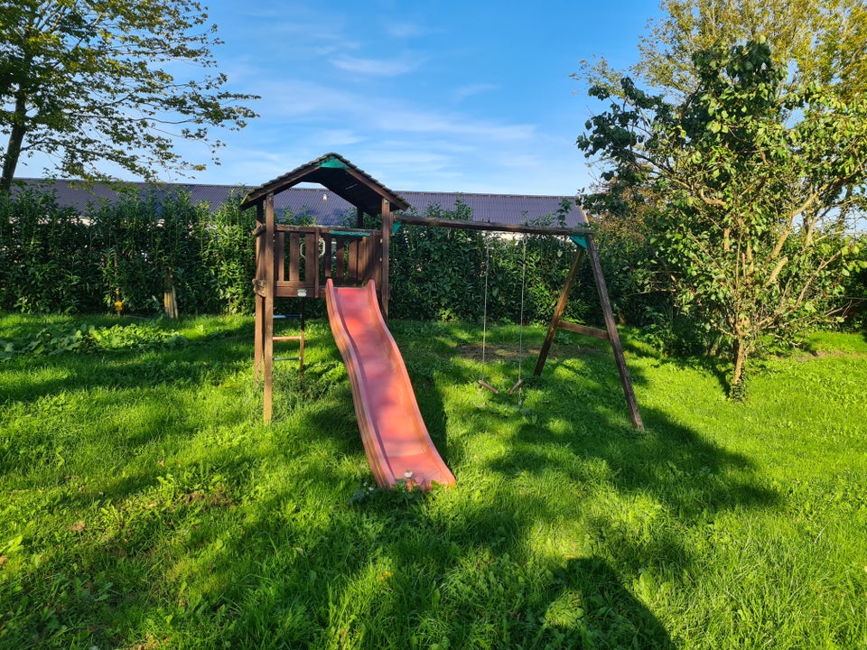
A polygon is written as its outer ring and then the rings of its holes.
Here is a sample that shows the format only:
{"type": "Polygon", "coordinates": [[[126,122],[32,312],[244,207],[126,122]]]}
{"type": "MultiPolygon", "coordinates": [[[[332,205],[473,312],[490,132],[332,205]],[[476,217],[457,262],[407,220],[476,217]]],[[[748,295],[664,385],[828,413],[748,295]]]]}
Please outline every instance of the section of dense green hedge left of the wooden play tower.
{"type": "Polygon", "coordinates": [[[252,311],[255,217],[232,197],[213,213],[154,188],[79,214],[51,194],[0,193],[0,307],[159,313],[173,286],[186,313],[252,311]]]}

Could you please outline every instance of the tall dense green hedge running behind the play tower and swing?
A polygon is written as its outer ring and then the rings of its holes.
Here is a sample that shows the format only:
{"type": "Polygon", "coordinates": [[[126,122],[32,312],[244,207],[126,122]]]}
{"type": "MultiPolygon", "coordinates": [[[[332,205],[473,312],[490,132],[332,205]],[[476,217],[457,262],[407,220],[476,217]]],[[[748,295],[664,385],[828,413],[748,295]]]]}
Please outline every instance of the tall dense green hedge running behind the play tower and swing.
{"type": "MultiPolygon", "coordinates": [[[[77,210],[36,191],[0,196],[0,310],[105,312],[119,300],[126,313],[154,314],[171,282],[182,314],[249,313],[255,217],[240,212],[239,202],[236,197],[211,213],[186,194],[152,190],[77,210]]],[[[470,219],[471,209],[459,202],[453,210],[432,205],[424,214],[470,219]]],[[[478,322],[487,273],[489,322],[545,322],[574,251],[564,237],[402,227],[392,238],[390,315],[478,322]]],[[[579,280],[567,316],[601,322],[587,265],[579,280]]],[[[320,307],[308,305],[308,312],[320,307]]]]}

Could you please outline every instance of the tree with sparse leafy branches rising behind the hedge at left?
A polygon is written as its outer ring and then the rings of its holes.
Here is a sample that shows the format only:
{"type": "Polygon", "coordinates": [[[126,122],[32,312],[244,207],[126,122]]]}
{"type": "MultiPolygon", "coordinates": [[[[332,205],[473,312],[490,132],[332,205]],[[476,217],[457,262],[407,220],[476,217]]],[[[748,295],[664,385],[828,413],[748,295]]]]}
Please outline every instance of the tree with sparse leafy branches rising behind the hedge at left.
{"type": "MultiPolygon", "coordinates": [[[[240,128],[255,96],[221,89],[216,25],[192,0],[17,0],[0,5],[0,191],[21,156],[45,153],[73,178],[106,178],[116,163],[154,179],[156,168],[203,169],[174,150],[176,137],[215,156],[210,127],[240,128]]],[[[215,159],[216,160],[216,159],[215,159]]]]}

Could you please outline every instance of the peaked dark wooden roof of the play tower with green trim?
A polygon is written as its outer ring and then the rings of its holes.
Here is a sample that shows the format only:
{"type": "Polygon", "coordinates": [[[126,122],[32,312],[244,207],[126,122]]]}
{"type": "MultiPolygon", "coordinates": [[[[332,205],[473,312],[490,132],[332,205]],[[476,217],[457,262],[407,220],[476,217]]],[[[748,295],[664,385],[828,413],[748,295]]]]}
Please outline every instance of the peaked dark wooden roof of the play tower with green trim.
{"type": "Polygon", "coordinates": [[[406,200],[339,153],[326,153],[251,190],[241,202],[241,209],[261,204],[268,194],[279,194],[300,182],[319,183],[369,215],[377,215],[382,211],[383,200],[387,200],[393,209],[409,209],[406,200]]]}

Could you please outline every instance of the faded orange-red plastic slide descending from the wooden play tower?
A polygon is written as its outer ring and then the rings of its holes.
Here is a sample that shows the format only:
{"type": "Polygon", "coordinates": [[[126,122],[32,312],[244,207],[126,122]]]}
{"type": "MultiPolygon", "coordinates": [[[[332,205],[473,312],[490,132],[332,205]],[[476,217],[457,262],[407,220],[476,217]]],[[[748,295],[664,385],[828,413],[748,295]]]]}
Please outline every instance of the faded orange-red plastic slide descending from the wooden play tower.
{"type": "Polygon", "coordinates": [[[405,480],[422,489],[454,485],[424,426],[395,339],[371,281],[365,287],[326,284],[331,331],[346,362],[361,440],[379,487],[405,480]]]}

